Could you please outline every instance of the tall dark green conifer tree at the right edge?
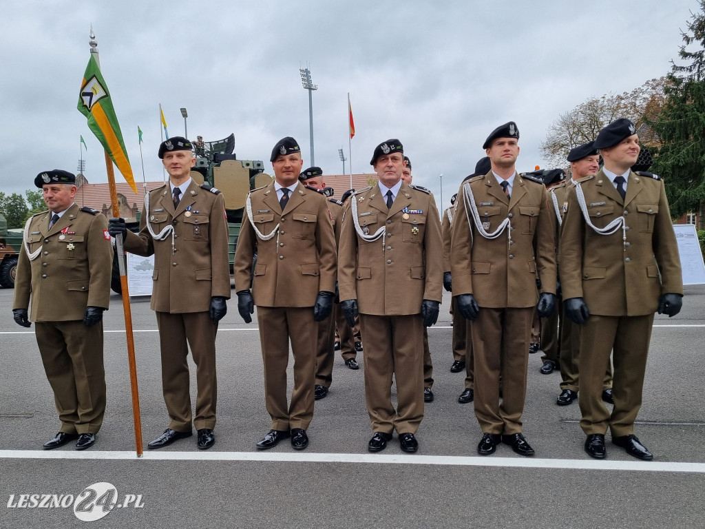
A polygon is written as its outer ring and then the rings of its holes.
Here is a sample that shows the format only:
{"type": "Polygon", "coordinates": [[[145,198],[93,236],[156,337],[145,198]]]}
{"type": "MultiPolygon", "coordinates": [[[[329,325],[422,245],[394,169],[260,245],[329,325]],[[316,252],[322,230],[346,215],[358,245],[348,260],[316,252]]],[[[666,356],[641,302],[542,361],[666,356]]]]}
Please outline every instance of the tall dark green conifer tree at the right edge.
{"type": "Polygon", "coordinates": [[[661,142],[653,170],[663,175],[673,217],[699,210],[705,213],[705,0],[682,32],[685,44],[671,61],[666,103],[646,122],[661,142]]]}

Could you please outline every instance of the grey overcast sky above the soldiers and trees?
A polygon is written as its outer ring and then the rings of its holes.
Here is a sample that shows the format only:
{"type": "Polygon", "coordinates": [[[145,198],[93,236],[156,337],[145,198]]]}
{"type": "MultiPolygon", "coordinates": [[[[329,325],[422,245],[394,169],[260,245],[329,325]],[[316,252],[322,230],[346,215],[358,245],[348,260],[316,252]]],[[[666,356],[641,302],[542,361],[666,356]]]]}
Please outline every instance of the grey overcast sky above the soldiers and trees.
{"type": "MultiPolygon", "coordinates": [[[[310,66],[314,154],[326,174],[348,157],[348,103],[355,118],[349,171],[372,172],[374,147],[399,138],[415,182],[443,202],[484,156],[496,126],[516,121],[520,171],[543,162],[539,145],[558,114],[593,96],[633,90],[666,75],[695,0],[400,2],[307,0],[120,2],[13,1],[0,46],[5,166],[0,190],[32,188],[47,169],[105,182],[102,147],[76,109],[93,25],[102,73],[125,145],[142,181],[161,180],[159,103],[170,135],[219,140],[235,133],[239,159],[265,162],[283,136],[309,152],[310,66]],[[202,9],[202,11],[197,11],[202,9]]],[[[119,173],[117,177],[120,178],[119,173]]]]}

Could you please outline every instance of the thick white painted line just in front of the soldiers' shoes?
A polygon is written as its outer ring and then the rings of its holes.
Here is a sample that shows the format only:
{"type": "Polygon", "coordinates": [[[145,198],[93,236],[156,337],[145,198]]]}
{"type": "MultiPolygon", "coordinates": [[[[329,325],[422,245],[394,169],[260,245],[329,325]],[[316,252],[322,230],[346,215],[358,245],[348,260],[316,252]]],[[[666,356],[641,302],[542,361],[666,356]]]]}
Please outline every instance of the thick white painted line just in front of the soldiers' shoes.
{"type": "MultiPolygon", "coordinates": [[[[0,459],[137,459],[133,451],[0,450],[0,459]]],[[[494,466],[513,468],[572,468],[637,470],[705,474],[705,463],[685,461],[598,461],[596,459],[534,459],[471,456],[406,456],[391,454],[288,454],[275,452],[147,451],[144,461],[272,461],[280,463],[376,463],[384,465],[494,466]]]]}

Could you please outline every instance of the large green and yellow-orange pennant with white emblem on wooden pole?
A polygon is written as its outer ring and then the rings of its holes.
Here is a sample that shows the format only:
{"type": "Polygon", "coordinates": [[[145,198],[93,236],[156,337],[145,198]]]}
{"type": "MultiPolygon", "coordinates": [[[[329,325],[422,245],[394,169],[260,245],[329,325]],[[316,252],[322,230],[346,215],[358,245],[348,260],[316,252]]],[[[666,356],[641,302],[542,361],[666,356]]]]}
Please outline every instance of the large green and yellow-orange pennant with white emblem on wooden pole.
{"type": "Polygon", "coordinates": [[[118,118],[115,116],[110,92],[108,92],[108,87],[93,56],[89,59],[83,74],[81,90],[78,94],[78,111],[88,118],[88,128],[93,131],[95,137],[105,147],[125,181],[137,193],[135,178],[123,142],[123,135],[120,132],[118,118]]]}

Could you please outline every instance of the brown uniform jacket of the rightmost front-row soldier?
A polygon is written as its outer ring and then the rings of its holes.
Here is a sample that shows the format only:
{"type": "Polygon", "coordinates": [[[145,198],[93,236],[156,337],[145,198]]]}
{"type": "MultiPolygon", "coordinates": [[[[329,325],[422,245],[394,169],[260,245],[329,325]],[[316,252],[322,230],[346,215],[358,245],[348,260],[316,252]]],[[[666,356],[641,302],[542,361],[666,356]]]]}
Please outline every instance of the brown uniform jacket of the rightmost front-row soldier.
{"type": "Polygon", "coordinates": [[[560,238],[563,299],[584,298],[590,314],[648,315],[662,293],[683,293],[678,245],[663,181],[627,178],[622,200],[600,170],[580,181],[592,223],[603,228],[624,215],[627,231],[600,235],[585,223],[575,188],[568,193],[568,212],[560,238]]]}

